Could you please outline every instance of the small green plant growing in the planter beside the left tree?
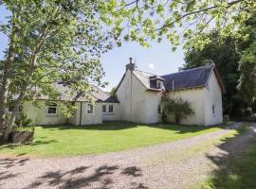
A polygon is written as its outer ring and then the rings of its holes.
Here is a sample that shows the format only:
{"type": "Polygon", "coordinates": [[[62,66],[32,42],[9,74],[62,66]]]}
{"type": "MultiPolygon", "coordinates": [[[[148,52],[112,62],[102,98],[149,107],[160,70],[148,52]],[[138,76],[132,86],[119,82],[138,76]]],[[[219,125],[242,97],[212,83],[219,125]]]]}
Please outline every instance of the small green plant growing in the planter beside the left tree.
{"type": "Polygon", "coordinates": [[[15,125],[13,131],[34,131],[34,122],[27,117],[27,115],[22,115],[21,118],[15,120],[15,125]]]}

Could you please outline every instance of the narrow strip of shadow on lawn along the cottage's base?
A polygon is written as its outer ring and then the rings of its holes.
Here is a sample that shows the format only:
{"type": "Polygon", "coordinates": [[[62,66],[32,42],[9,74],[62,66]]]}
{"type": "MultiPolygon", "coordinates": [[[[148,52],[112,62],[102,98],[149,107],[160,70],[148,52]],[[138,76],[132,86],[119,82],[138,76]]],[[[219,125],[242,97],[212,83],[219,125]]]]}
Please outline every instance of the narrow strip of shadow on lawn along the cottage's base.
{"type": "Polygon", "coordinates": [[[177,133],[188,133],[188,132],[197,132],[201,130],[207,130],[212,128],[222,128],[226,126],[189,126],[189,125],[175,125],[173,123],[159,123],[159,124],[140,124],[133,122],[125,121],[110,121],[103,122],[101,125],[88,125],[88,126],[70,126],[70,125],[57,125],[57,126],[42,126],[44,129],[88,129],[88,130],[121,130],[121,129],[133,129],[138,127],[148,127],[155,129],[167,129],[174,130],[177,133]]]}

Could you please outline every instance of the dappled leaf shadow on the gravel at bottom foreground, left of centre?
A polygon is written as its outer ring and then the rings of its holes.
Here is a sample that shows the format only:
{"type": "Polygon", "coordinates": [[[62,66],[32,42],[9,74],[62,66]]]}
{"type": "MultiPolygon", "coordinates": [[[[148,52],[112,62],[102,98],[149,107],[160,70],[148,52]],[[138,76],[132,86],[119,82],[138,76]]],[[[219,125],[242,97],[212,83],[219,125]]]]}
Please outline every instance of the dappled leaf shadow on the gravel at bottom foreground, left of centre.
{"type": "MultiPolygon", "coordinates": [[[[91,166],[79,166],[69,171],[49,171],[44,175],[32,181],[25,188],[37,188],[43,184],[48,187],[58,187],[64,189],[71,188],[91,188],[93,184],[97,185],[97,188],[112,188],[116,183],[114,178],[116,177],[129,177],[129,180],[142,176],[142,170],[136,166],[126,167],[121,169],[119,165],[101,165],[93,170],[88,171],[91,166]],[[129,170],[127,172],[127,170],[129,170]],[[139,174],[135,174],[139,170],[139,174]],[[121,174],[119,174],[121,172],[121,174]],[[115,176],[114,176],[115,174],[115,176]]],[[[127,187],[134,189],[147,189],[143,183],[130,182],[126,183],[127,187]]],[[[93,185],[93,186],[95,186],[93,185]]]]}

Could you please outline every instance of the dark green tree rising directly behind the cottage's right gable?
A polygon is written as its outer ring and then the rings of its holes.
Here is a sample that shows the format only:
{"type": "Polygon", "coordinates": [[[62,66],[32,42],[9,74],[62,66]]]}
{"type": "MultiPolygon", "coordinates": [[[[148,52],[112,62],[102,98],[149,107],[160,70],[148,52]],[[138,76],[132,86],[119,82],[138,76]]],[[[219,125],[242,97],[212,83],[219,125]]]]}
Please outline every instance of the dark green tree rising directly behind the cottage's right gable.
{"type": "Polygon", "coordinates": [[[224,112],[236,115],[239,108],[243,108],[245,102],[241,93],[237,90],[241,72],[238,70],[241,55],[237,49],[237,40],[231,37],[222,39],[218,32],[212,31],[211,42],[202,49],[192,47],[185,53],[186,63],[182,69],[191,69],[204,65],[204,60],[213,60],[220,72],[225,85],[224,112]]]}

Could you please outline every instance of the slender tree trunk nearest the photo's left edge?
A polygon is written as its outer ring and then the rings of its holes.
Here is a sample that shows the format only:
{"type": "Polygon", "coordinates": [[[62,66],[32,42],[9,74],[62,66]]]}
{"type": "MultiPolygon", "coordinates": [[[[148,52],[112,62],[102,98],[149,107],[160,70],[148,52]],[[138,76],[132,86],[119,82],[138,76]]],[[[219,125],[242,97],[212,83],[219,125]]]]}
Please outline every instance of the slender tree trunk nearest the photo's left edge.
{"type": "Polygon", "coordinates": [[[6,104],[8,100],[10,77],[12,75],[12,64],[15,58],[15,46],[13,41],[9,44],[8,59],[4,62],[4,76],[2,81],[2,88],[0,92],[0,132],[3,133],[6,123],[6,104]]]}

